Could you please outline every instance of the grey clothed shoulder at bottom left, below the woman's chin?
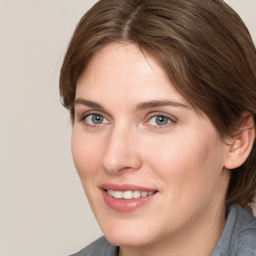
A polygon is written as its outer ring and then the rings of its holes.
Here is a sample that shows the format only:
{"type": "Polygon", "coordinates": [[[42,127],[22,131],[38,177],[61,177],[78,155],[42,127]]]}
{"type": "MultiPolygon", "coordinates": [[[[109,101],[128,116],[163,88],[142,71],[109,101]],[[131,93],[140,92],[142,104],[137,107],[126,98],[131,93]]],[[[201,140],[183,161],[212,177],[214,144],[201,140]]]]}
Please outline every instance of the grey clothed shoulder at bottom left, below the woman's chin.
{"type": "Polygon", "coordinates": [[[109,243],[104,236],[99,237],[85,248],[70,256],[117,256],[119,248],[109,243]]]}

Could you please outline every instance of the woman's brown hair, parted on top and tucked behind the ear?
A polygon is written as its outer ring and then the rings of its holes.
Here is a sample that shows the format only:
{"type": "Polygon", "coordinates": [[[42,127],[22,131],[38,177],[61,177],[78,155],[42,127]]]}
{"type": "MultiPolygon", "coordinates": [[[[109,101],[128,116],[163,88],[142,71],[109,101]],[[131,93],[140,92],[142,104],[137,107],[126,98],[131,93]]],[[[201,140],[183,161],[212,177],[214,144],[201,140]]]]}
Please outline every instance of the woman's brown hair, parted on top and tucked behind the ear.
{"type": "MultiPolygon", "coordinates": [[[[76,81],[90,57],[113,42],[136,44],[160,63],[179,93],[206,113],[223,140],[256,121],[256,50],[238,16],[222,0],[100,0],[78,22],[60,70],[62,104],[74,120],[76,81]]],[[[255,196],[255,141],[232,169],[226,206],[255,196]]]]}

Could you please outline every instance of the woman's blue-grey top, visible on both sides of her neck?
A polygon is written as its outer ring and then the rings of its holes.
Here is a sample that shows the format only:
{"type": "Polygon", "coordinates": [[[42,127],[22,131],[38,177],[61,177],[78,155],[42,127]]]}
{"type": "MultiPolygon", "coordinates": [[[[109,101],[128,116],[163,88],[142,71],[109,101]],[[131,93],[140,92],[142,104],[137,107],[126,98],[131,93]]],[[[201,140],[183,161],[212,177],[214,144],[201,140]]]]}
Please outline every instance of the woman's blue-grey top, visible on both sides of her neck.
{"type": "MultiPolygon", "coordinates": [[[[104,236],[70,256],[118,256],[119,247],[104,236]]],[[[232,206],[222,234],[209,256],[256,256],[256,218],[238,205],[232,206]]]]}

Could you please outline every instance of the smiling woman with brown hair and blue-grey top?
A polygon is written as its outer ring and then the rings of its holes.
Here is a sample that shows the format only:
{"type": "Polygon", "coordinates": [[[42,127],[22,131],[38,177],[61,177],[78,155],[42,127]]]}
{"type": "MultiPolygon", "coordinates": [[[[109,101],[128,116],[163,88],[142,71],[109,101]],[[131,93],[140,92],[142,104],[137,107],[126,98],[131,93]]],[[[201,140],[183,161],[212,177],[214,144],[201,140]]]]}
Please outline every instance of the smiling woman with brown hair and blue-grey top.
{"type": "Polygon", "coordinates": [[[100,0],[60,72],[104,233],[74,255],[255,255],[256,50],[221,0],[100,0]]]}

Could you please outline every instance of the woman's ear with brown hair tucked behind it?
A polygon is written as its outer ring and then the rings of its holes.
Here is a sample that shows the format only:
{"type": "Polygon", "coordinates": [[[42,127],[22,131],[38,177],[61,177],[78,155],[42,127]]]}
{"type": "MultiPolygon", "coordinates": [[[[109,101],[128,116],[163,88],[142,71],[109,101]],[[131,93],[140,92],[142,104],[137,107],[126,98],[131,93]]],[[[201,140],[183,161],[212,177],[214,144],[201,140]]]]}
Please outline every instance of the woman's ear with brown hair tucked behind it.
{"type": "Polygon", "coordinates": [[[227,157],[224,161],[226,169],[233,169],[242,165],[248,157],[255,138],[253,115],[244,113],[241,117],[241,132],[232,139],[227,157]]]}

